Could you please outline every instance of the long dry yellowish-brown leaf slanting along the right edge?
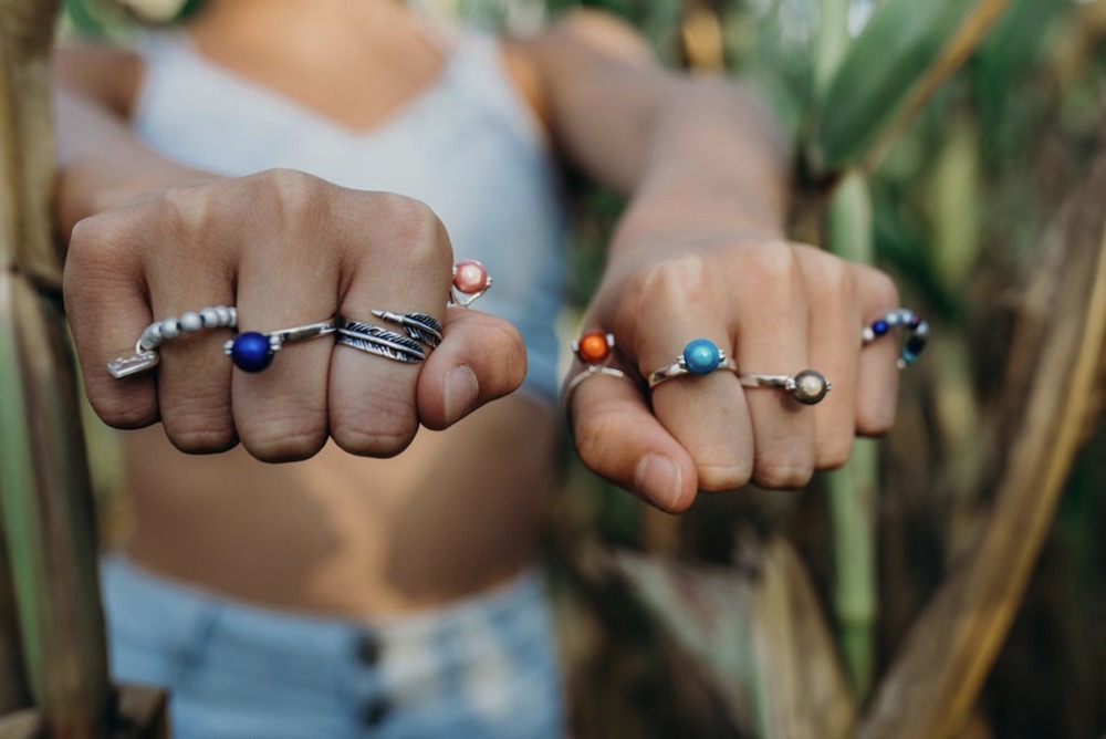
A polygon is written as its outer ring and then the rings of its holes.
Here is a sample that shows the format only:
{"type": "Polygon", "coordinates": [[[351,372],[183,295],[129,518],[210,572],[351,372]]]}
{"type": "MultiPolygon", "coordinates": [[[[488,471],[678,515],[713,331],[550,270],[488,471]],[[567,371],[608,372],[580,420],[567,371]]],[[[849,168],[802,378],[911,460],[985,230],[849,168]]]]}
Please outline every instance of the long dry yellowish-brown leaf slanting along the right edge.
{"type": "Polygon", "coordinates": [[[879,686],[860,737],[962,728],[1005,639],[1082,440],[1106,347],[1106,152],[1044,241],[1021,306],[1005,398],[1023,408],[975,551],[953,569],[879,686]]]}

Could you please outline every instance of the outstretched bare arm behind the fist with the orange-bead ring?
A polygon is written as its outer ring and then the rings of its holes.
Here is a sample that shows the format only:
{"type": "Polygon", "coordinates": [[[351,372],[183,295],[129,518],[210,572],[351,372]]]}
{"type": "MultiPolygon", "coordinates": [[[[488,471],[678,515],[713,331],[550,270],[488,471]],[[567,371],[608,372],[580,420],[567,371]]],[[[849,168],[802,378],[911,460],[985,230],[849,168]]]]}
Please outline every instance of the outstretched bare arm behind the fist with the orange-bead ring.
{"type": "Polygon", "coordinates": [[[630,195],[626,242],[782,235],[789,153],[737,83],[666,73],[581,40],[568,23],[535,44],[549,121],[566,156],[630,195]]]}

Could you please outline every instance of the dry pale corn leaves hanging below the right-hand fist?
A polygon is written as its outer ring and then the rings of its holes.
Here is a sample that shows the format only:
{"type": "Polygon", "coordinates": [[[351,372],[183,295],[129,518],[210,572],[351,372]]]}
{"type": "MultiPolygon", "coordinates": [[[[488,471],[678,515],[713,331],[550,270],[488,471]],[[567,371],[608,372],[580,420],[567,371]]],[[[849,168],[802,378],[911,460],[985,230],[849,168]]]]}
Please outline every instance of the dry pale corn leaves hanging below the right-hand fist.
{"type": "Polygon", "coordinates": [[[735,724],[758,737],[847,737],[853,701],[810,577],[786,539],[752,539],[741,559],[755,572],[630,552],[611,564],[735,724]]]}

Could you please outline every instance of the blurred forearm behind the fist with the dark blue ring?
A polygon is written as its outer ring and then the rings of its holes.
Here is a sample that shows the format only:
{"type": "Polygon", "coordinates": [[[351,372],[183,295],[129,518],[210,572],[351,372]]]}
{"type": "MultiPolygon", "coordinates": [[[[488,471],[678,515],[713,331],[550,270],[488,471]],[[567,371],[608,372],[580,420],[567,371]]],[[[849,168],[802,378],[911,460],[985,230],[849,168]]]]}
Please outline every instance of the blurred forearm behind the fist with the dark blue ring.
{"type": "Polygon", "coordinates": [[[54,107],[55,219],[62,233],[82,218],[145,192],[213,177],[154,152],[125,119],[79,93],[58,89],[54,107]]]}

